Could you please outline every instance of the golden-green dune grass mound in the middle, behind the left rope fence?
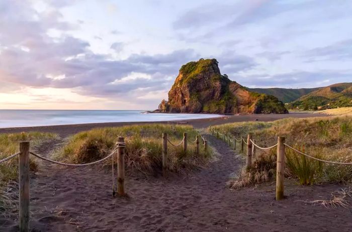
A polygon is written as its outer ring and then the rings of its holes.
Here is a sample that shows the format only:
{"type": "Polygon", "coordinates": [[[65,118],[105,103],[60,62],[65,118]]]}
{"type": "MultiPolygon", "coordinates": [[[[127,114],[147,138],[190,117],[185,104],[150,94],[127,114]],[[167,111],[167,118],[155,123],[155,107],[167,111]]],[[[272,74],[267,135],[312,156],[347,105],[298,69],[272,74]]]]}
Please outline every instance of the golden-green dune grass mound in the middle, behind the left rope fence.
{"type": "MultiPolygon", "coordinates": [[[[162,133],[167,133],[173,144],[183,139],[188,133],[191,141],[195,140],[197,131],[191,126],[174,126],[164,124],[133,125],[115,128],[99,128],[80,132],[68,139],[67,144],[57,152],[56,159],[73,163],[87,163],[100,160],[115,148],[118,136],[125,137],[126,169],[139,170],[144,173],[159,172],[162,169],[162,133]]],[[[182,147],[168,144],[168,167],[171,172],[204,167],[211,152],[204,152],[200,140],[200,154],[195,154],[195,144],[188,143],[187,152],[182,147]]],[[[108,159],[104,165],[111,165],[108,159]]]]}

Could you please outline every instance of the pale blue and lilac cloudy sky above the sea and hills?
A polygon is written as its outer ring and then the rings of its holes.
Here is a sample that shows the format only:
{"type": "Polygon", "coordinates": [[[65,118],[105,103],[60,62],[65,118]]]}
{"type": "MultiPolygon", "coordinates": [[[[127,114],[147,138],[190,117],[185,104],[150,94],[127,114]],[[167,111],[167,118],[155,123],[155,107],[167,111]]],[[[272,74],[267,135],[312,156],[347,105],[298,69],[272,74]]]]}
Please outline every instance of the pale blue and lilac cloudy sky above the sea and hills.
{"type": "Polygon", "coordinates": [[[181,66],[247,87],[352,82],[352,1],[2,0],[0,108],[155,109],[181,66]]]}

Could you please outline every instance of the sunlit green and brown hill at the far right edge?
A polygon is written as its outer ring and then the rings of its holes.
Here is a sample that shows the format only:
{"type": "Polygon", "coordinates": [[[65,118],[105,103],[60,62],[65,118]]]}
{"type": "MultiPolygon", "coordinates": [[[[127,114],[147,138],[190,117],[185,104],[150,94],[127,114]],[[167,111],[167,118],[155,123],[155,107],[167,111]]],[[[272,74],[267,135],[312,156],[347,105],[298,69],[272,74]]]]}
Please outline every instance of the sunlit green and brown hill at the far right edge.
{"type": "Polygon", "coordinates": [[[288,108],[329,109],[352,106],[352,83],[319,88],[291,102],[288,108]]]}

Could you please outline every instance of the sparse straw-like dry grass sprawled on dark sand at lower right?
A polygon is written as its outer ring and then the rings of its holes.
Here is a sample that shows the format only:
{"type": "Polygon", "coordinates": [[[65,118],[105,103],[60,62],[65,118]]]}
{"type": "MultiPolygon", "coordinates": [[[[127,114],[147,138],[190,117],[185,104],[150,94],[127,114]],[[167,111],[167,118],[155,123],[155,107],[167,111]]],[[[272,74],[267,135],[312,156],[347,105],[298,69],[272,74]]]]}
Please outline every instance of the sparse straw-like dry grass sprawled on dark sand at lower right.
{"type": "Polygon", "coordinates": [[[352,192],[350,188],[345,188],[339,191],[332,192],[331,198],[329,200],[313,200],[305,202],[313,205],[321,205],[325,208],[350,208],[351,205],[347,199],[352,199],[352,192]]]}

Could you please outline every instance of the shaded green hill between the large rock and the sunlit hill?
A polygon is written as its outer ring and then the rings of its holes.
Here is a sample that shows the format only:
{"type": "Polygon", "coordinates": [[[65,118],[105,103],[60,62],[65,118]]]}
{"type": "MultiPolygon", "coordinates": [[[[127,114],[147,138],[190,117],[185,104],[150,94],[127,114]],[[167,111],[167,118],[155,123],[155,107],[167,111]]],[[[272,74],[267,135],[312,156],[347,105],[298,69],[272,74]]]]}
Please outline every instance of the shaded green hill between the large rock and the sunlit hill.
{"type": "Polygon", "coordinates": [[[284,103],[295,101],[301,96],[318,89],[320,88],[248,88],[249,91],[276,96],[284,103]]]}

